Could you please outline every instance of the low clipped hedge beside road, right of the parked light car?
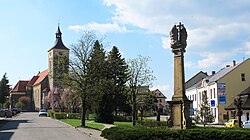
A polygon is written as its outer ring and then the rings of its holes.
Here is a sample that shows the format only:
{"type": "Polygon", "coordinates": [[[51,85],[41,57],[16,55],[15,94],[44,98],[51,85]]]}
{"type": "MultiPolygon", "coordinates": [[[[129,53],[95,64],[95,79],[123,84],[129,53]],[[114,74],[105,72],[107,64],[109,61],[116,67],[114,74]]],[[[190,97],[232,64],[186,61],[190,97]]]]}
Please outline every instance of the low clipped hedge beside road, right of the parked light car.
{"type": "Polygon", "coordinates": [[[80,119],[79,113],[55,112],[48,110],[48,116],[53,119],[80,119]]]}

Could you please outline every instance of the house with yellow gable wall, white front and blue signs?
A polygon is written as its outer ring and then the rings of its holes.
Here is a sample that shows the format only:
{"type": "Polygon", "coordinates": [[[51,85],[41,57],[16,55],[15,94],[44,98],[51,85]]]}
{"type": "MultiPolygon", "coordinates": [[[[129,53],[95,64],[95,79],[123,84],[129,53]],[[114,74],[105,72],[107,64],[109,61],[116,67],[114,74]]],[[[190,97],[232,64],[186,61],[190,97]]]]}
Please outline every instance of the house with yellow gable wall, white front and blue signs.
{"type": "MultiPolygon", "coordinates": [[[[202,79],[193,87],[197,109],[199,110],[203,96],[207,96],[215,123],[224,123],[231,115],[228,114],[225,107],[229,106],[234,98],[250,85],[249,79],[250,59],[238,64],[233,61],[232,65],[227,65],[217,73],[213,72],[212,75],[202,79]]],[[[191,94],[190,90],[186,89],[186,94],[191,94]]]]}

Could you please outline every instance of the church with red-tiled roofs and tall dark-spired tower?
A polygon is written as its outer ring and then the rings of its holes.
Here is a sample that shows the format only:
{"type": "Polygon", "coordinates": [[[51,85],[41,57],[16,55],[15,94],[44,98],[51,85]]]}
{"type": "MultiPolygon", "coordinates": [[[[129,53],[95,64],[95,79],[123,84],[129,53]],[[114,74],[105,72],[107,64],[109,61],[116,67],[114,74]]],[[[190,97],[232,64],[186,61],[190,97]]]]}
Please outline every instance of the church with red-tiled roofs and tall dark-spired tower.
{"type": "Polygon", "coordinates": [[[44,96],[54,87],[60,87],[60,79],[68,73],[69,49],[63,44],[62,32],[58,26],[55,45],[48,50],[48,69],[39,72],[30,80],[19,80],[10,91],[10,107],[15,108],[20,97],[26,96],[30,104],[24,110],[43,108],[44,96]]]}

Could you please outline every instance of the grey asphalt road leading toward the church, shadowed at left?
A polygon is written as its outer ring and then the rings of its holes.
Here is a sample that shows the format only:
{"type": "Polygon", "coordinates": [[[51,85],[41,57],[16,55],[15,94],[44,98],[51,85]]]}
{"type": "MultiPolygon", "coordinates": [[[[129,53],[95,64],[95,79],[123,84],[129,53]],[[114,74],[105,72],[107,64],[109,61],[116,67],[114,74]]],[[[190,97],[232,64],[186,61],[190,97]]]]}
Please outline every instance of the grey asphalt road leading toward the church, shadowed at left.
{"type": "Polygon", "coordinates": [[[0,140],[91,140],[88,135],[37,112],[0,120],[0,140]]]}

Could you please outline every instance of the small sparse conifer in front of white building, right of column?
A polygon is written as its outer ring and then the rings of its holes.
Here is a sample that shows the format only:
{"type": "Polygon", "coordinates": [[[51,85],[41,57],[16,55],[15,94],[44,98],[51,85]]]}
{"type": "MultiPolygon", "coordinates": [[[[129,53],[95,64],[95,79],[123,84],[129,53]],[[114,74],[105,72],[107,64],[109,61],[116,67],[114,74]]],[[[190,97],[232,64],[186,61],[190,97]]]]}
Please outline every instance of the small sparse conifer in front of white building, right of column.
{"type": "Polygon", "coordinates": [[[197,116],[204,127],[207,123],[211,123],[214,120],[214,116],[212,115],[210,108],[208,97],[206,94],[203,94],[202,102],[199,105],[199,110],[197,110],[197,116]]]}

